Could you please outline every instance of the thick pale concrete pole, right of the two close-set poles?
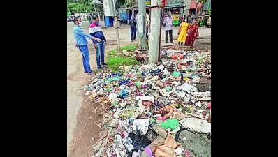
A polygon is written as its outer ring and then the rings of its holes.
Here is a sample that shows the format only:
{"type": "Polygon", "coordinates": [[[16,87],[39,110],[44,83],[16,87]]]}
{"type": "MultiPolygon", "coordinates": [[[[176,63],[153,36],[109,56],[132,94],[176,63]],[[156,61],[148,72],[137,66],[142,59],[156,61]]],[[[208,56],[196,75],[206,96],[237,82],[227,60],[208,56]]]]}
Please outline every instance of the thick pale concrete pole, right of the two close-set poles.
{"type": "MultiPolygon", "coordinates": [[[[161,5],[161,1],[152,0],[151,6],[161,5]]],[[[159,59],[159,34],[160,34],[161,8],[152,8],[151,30],[149,34],[149,63],[157,63],[159,59]]]]}

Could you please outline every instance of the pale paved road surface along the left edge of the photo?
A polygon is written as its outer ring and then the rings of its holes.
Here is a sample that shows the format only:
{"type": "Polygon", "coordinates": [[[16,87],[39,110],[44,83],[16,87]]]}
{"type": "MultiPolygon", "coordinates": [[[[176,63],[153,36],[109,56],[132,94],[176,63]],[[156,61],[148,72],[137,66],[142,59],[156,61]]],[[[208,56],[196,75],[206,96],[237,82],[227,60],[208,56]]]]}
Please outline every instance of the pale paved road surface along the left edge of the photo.
{"type": "Polygon", "coordinates": [[[83,73],[80,51],[75,49],[73,22],[67,23],[67,37],[67,144],[69,145],[83,100],[80,89],[89,77],[83,73]]]}

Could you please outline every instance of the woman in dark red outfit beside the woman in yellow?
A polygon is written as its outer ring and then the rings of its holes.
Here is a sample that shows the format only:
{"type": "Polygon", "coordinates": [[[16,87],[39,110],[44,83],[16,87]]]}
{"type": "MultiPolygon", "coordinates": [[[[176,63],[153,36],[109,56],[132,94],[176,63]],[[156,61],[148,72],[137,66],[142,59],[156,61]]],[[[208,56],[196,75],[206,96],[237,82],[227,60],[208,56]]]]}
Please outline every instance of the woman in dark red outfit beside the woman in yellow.
{"type": "Polygon", "coordinates": [[[195,39],[199,36],[198,23],[196,23],[196,19],[193,19],[193,22],[189,25],[189,28],[187,29],[186,33],[187,36],[185,40],[185,45],[193,46],[195,39]]]}

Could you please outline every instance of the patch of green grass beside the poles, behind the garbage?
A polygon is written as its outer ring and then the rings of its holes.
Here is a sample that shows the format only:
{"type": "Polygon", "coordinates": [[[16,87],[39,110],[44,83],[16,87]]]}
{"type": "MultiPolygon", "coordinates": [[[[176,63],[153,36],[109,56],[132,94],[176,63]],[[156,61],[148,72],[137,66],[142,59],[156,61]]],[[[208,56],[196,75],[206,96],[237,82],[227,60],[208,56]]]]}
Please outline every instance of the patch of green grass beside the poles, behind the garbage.
{"type": "MultiPolygon", "coordinates": [[[[125,45],[120,50],[135,50],[136,48],[136,45],[125,45]]],[[[122,52],[117,52],[117,49],[108,52],[107,59],[108,68],[113,71],[121,70],[119,66],[129,66],[138,63],[133,57],[124,56],[122,52]]]]}

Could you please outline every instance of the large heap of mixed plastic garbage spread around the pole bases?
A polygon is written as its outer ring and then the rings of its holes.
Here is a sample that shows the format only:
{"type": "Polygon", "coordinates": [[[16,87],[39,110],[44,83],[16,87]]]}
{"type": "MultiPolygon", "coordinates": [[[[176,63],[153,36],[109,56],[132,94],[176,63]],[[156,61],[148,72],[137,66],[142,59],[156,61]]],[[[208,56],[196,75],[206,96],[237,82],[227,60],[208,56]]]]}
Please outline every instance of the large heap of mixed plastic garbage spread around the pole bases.
{"type": "Polygon", "coordinates": [[[85,86],[85,96],[109,109],[93,156],[196,156],[180,134],[210,140],[210,53],[169,50],[161,57],[101,73],[85,86]]]}

